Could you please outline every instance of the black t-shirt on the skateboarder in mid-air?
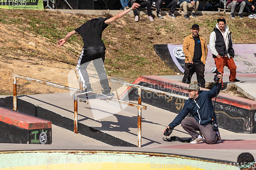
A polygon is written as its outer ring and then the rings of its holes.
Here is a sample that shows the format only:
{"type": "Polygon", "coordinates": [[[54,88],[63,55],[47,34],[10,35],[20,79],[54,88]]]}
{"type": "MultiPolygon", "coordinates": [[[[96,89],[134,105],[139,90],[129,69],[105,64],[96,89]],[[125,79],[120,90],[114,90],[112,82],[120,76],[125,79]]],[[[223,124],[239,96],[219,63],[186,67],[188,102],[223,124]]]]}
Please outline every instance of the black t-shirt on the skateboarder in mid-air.
{"type": "Polygon", "coordinates": [[[101,40],[101,36],[104,29],[108,27],[105,20],[109,18],[93,18],[75,29],[75,32],[79,33],[82,37],[83,48],[88,46],[105,46],[101,40]]]}

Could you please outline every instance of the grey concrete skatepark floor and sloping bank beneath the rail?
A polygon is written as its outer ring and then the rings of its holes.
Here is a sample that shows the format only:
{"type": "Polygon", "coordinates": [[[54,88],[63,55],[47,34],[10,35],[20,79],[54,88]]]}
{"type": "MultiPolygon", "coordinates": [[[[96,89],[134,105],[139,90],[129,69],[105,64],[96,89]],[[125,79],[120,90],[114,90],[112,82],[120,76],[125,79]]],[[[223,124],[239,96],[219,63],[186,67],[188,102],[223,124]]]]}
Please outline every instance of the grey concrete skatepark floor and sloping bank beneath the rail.
{"type": "MultiPolygon", "coordinates": [[[[20,96],[19,99],[33,103],[73,119],[73,99],[70,93],[38,94],[20,96]],[[57,101],[57,102],[56,102],[57,101]]],[[[146,105],[146,104],[143,104],[146,105]]],[[[219,144],[190,144],[179,141],[162,140],[164,128],[177,115],[150,105],[142,110],[142,148],[112,147],[100,141],[74,134],[63,128],[53,127],[53,143],[40,144],[0,144],[0,150],[116,150],[142,151],[187,155],[235,162],[245,151],[256,155],[254,145],[256,134],[237,134],[220,129],[223,141],[219,144]]],[[[89,105],[78,103],[78,122],[111,134],[137,145],[137,108],[117,106],[113,102],[94,100],[89,105]]],[[[179,125],[172,136],[189,137],[179,125]]]]}

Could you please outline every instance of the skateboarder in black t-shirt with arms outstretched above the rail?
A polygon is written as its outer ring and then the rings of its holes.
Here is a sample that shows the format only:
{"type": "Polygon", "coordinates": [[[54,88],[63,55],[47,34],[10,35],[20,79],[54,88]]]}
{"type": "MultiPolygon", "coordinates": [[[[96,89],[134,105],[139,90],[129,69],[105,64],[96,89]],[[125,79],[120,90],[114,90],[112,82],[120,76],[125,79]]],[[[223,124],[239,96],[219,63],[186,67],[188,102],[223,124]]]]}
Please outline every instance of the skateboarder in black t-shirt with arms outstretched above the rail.
{"type": "Polygon", "coordinates": [[[108,77],[104,68],[105,45],[101,40],[102,32],[106,27],[108,27],[110,23],[123,17],[125,14],[129,13],[131,10],[138,8],[139,6],[139,4],[134,3],[130,9],[119,12],[112,18],[93,18],[86,23],[83,23],[83,25],[81,25],[74,31],[69,32],[65,38],[62,38],[57,42],[56,45],[58,45],[57,47],[59,47],[67,42],[68,39],[75,34],[80,34],[82,37],[83,48],[77,62],[77,69],[79,72],[80,80],[82,81],[84,87],[84,90],[81,92],[81,94],[93,94],[87,72],[88,64],[93,61],[93,64],[98,72],[100,85],[104,89],[101,94],[106,95],[109,98],[114,96],[114,93],[111,92],[108,77]]]}

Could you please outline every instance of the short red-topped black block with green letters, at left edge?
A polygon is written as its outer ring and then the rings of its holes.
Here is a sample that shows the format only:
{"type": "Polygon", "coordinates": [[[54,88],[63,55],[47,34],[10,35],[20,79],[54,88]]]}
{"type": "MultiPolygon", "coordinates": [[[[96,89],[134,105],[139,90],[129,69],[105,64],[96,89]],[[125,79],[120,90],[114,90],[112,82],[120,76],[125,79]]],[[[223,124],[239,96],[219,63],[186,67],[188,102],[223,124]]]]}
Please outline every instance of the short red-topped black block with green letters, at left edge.
{"type": "Polygon", "coordinates": [[[0,143],[51,144],[48,120],[0,107],[0,143]]]}

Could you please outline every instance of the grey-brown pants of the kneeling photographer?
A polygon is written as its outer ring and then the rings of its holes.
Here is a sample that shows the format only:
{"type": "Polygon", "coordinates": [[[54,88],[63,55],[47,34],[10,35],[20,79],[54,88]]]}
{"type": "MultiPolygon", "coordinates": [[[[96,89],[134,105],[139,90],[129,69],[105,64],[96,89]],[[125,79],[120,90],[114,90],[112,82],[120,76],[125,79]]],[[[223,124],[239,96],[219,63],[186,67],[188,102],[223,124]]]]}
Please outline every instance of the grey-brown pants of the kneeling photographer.
{"type": "Polygon", "coordinates": [[[208,144],[212,144],[218,141],[218,135],[214,130],[212,130],[211,124],[206,126],[200,125],[194,117],[184,118],[181,121],[181,126],[193,138],[199,135],[197,131],[201,131],[205,141],[208,144]]]}

